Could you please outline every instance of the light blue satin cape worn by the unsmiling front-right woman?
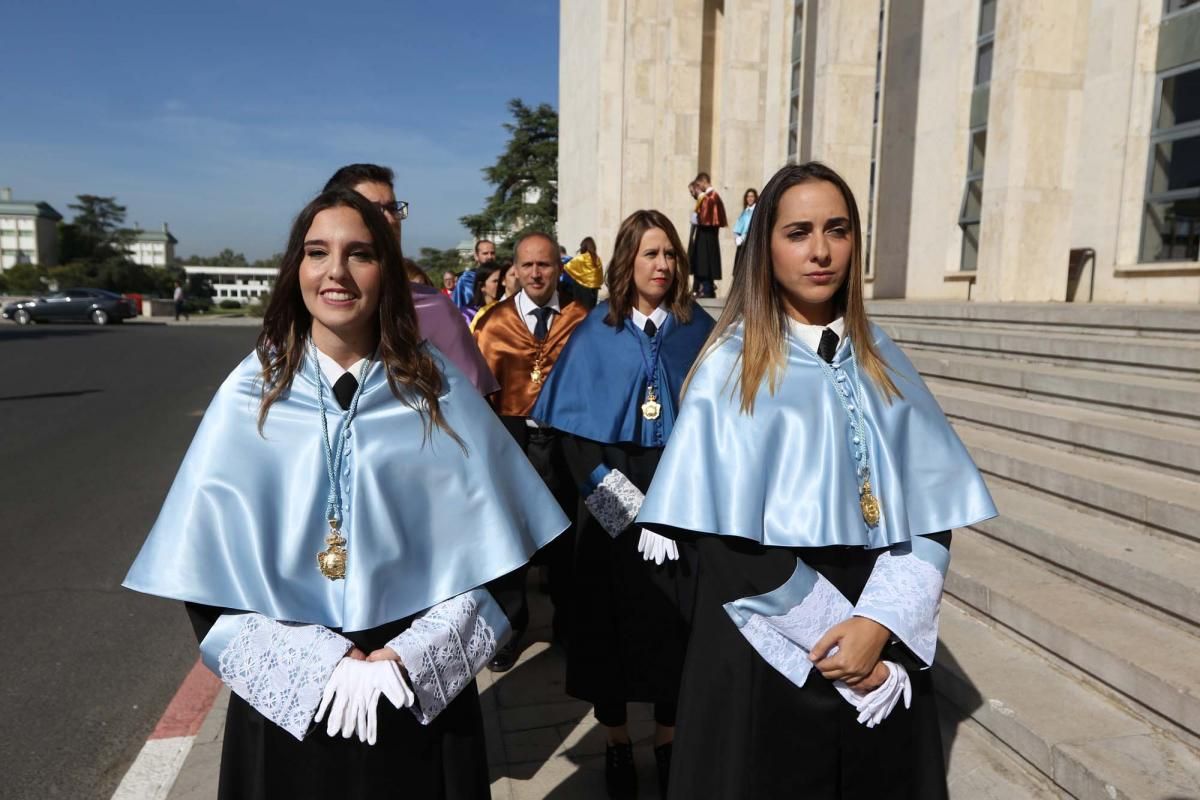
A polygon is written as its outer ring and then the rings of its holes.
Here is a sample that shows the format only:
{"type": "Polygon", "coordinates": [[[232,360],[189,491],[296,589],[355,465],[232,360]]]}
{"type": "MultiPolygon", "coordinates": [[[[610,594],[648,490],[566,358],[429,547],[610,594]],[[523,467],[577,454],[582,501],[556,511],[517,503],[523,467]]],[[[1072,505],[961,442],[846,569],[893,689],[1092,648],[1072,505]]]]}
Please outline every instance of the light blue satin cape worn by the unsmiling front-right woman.
{"type": "MultiPolygon", "coordinates": [[[[779,547],[888,547],[996,516],[991,495],[916,368],[871,325],[902,398],[862,374],[880,524],[863,521],[852,432],[816,353],[788,336],[774,395],[740,410],[742,326],[703,357],[646,493],[638,524],[740,536],[779,547]]],[[[834,363],[853,378],[853,342],[834,363]]]]}

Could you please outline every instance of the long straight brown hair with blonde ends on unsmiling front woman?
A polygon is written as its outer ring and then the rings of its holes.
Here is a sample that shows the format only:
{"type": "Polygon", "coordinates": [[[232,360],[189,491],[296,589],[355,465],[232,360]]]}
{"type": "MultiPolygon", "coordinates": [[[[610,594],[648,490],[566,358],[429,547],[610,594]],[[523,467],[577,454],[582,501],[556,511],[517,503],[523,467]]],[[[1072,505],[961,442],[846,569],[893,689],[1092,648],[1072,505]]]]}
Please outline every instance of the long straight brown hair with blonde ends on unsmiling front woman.
{"type": "Polygon", "coordinates": [[[793,186],[812,181],[832,184],[841,193],[850,212],[853,235],[850,273],[833,295],[834,311],[845,318],[846,336],[854,343],[854,357],[859,368],[883,391],[888,402],[893,397],[901,396],[888,375],[887,362],[875,347],[866,307],[863,303],[863,231],[854,193],[850,191],[841,175],[816,161],[784,167],[775,173],[758,196],[754,217],[750,219],[750,230],[742,246],[738,269],[733,272],[733,285],[725,311],[701,350],[703,355],[692,365],[684,381],[685,392],[704,357],[730,335],[733,326],[743,323],[739,356],[742,374],[737,381],[740,385],[742,410],[745,414],[754,414],[755,396],[764,378],[769,391],[775,393],[787,365],[787,313],[784,311],[780,288],[775,282],[770,255],[772,233],[779,217],[779,203],[784,193],[793,186]]]}

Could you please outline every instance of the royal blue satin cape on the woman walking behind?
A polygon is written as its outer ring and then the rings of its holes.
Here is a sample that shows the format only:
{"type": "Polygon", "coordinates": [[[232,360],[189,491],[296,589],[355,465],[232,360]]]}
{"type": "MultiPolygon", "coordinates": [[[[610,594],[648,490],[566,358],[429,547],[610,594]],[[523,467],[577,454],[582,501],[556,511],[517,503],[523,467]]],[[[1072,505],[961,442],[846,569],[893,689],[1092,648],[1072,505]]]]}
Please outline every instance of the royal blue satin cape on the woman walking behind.
{"type": "Polygon", "coordinates": [[[658,420],[647,420],[642,403],[652,339],[631,319],[620,327],[606,324],[607,313],[608,303],[601,302],[571,333],[530,416],[606,445],[661,447],[674,427],[683,380],[713,330],[713,318],[698,305],[692,306],[686,325],[667,314],[655,335],[659,363],[654,384],[662,410],[658,420]]]}

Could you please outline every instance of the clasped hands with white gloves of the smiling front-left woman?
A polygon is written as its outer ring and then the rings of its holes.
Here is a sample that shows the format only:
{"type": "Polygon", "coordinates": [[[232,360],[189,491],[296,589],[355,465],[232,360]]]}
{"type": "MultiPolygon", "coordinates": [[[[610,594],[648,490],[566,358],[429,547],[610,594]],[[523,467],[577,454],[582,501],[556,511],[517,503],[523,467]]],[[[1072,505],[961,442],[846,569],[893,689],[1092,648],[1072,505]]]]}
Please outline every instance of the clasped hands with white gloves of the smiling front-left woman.
{"type": "Polygon", "coordinates": [[[373,745],[378,733],[376,709],[380,696],[386,697],[397,709],[408,708],[416,702],[394,650],[380,648],[368,657],[353,648],[337,662],[334,674],[325,684],[316,722],[320,722],[328,711],[325,732],[330,736],[341,734],[343,739],[349,739],[356,734],[359,741],[373,745]]]}

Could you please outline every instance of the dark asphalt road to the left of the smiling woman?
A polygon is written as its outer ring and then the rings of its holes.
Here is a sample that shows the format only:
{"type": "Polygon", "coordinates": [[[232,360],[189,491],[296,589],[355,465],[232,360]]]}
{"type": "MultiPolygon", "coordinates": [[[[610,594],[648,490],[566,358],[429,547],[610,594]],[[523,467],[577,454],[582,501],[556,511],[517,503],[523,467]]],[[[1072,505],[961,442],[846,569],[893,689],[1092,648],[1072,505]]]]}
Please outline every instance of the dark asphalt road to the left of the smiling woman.
{"type": "Polygon", "coordinates": [[[0,323],[0,798],[109,798],[187,669],[120,588],[253,327],[0,323]]]}

